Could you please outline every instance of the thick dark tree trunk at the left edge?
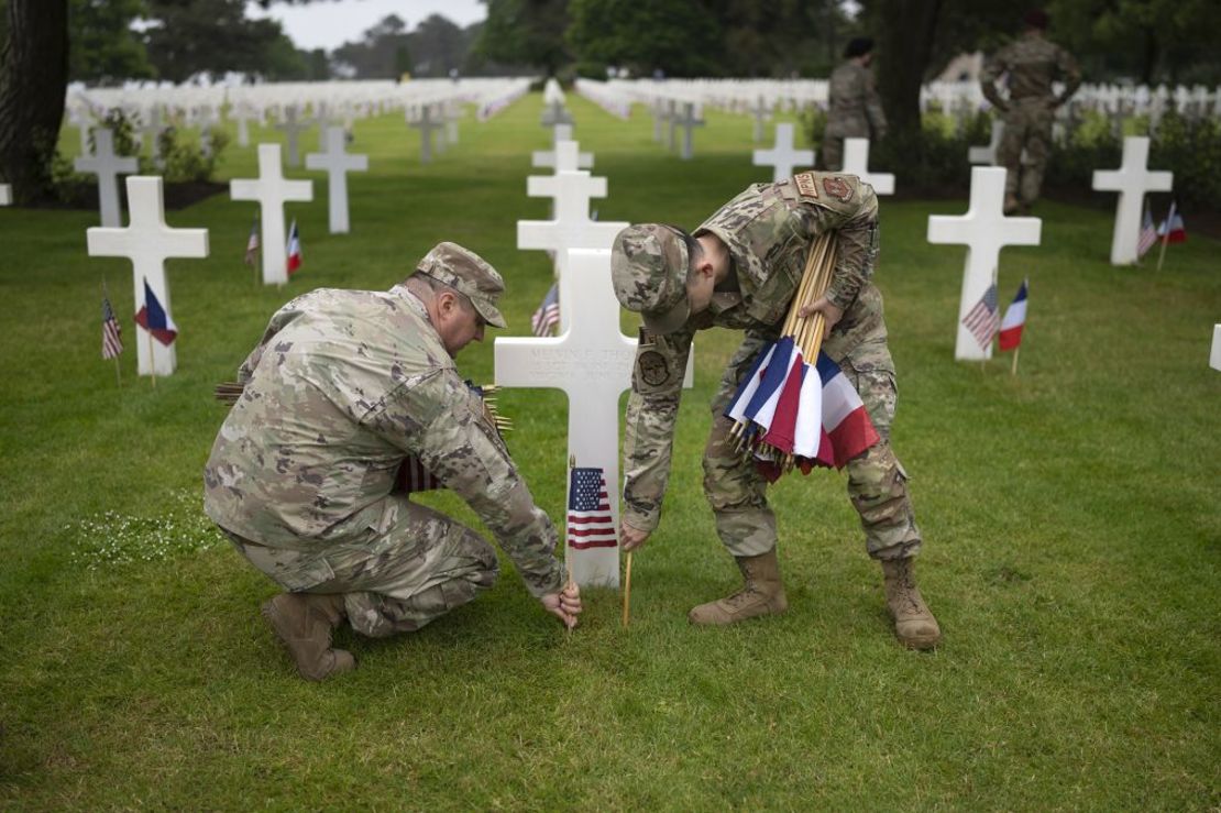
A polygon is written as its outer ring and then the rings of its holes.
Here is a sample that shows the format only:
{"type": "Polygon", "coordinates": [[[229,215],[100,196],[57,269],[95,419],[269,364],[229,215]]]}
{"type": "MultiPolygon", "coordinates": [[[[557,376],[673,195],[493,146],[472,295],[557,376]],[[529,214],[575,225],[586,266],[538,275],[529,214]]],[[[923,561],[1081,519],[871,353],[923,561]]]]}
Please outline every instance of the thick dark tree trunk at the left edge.
{"type": "Polygon", "coordinates": [[[17,201],[50,186],[68,84],[68,0],[9,0],[0,45],[0,176],[17,201]]]}

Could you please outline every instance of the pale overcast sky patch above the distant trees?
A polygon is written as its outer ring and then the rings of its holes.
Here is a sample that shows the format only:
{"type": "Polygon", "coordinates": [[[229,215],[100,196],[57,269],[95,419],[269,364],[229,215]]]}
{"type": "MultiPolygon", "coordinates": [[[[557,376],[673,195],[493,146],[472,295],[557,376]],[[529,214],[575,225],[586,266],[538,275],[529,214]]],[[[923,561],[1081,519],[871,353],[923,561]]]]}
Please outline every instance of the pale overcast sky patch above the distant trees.
{"type": "Polygon", "coordinates": [[[343,43],[359,40],[365,31],[389,15],[398,15],[408,29],[430,15],[448,17],[465,27],[485,20],[487,6],[479,0],[314,0],[303,6],[275,2],[264,11],[248,1],[247,15],[278,20],[297,48],[330,51],[343,43]]]}

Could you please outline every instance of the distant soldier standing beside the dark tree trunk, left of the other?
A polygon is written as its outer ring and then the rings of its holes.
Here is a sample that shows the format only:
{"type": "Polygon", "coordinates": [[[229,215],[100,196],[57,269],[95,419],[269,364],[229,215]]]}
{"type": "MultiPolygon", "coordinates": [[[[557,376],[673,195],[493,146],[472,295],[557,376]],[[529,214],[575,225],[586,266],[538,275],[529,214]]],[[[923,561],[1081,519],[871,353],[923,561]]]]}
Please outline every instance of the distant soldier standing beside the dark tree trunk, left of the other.
{"type": "Polygon", "coordinates": [[[886,114],[873,89],[873,40],[857,37],[844,49],[845,62],[832,73],[823,166],[839,172],[844,166],[844,139],[878,140],[886,134],[886,114]]]}

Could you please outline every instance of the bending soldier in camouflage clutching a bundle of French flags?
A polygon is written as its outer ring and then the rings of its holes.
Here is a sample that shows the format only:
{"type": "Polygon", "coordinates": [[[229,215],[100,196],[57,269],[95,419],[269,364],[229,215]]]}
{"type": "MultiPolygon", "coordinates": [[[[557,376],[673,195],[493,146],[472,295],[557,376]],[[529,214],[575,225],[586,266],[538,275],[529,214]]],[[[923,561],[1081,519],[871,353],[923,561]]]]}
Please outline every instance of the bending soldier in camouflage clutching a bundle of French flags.
{"type": "Polygon", "coordinates": [[[912,557],[921,535],[907,496],[907,475],[890,448],[895,366],[886,347],[882,294],[871,282],[878,249],[878,204],[852,175],[802,172],[759,183],[726,203],[694,234],[670,226],[630,226],[615,238],[612,273],[624,308],[639,311],[648,332],[636,353],[624,439],[620,540],[626,551],[658,526],[669,480],[674,425],[687,350],[696,331],[745,332],[712,402],[703,457],[705,494],[717,533],[737,562],[745,586],[691,610],[694,624],[733,624],[788,607],[777,562],[775,515],[766,481],[729,437],[725,406],[759,350],[778,338],[797,293],[806,256],[819,234],[839,232],[821,311],[830,327],[823,345],[861,394],[880,441],[847,464],[849,497],[861,516],[866,547],[882,562],[885,597],[899,638],[929,648],[937,619],[917,590],[912,557]]]}

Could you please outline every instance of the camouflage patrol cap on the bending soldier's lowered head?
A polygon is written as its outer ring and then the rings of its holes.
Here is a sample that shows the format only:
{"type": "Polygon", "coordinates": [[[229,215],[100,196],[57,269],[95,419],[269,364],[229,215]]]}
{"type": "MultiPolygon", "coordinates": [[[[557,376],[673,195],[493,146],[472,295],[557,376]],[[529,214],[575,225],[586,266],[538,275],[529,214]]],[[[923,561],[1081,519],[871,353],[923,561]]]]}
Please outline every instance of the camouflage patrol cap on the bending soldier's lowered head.
{"type": "Polygon", "coordinates": [[[686,240],[676,228],[662,223],[629,226],[615,236],[610,248],[615,297],[643,317],[646,330],[673,333],[691,315],[687,262],[686,240]]]}

